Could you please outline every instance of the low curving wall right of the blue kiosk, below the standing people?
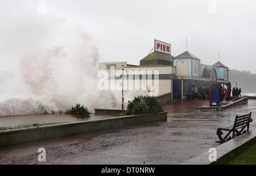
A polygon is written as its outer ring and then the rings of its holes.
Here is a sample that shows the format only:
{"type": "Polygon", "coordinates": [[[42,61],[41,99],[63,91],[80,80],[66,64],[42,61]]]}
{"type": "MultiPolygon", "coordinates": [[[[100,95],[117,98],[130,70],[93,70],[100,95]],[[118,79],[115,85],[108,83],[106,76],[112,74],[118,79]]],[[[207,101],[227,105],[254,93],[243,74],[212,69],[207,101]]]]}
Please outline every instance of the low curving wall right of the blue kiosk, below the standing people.
{"type": "Polygon", "coordinates": [[[239,100],[236,100],[235,102],[232,102],[230,104],[226,104],[224,106],[216,106],[216,107],[198,107],[195,109],[195,112],[208,112],[208,111],[222,111],[226,110],[235,106],[240,106],[241,104],[247,104],[248,98],[244,97],[239,100]]]}

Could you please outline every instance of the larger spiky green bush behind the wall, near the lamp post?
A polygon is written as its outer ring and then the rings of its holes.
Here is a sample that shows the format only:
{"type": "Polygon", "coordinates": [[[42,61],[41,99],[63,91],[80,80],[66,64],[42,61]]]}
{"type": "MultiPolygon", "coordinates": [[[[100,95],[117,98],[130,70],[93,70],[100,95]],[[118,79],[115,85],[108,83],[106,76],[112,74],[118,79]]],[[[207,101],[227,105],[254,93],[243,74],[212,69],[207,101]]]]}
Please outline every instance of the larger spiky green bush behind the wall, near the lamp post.
{"type": "Polygon", "coordinates": [[[157,97],[138,96],[128,103],[127,110],[118,116],[163,112],[157,97]]]}

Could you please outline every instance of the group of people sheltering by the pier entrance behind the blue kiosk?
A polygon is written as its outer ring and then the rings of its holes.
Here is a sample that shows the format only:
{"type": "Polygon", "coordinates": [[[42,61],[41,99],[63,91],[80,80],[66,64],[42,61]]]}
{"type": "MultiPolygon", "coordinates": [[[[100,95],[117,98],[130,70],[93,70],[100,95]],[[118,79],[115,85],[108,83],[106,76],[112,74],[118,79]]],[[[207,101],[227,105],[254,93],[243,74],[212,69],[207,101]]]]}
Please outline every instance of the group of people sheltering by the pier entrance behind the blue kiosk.
{"type": "Polygon", "coordinates": [[[188,99],[209,99],[209,87],[191,86],[188,90],[188,99]]]}

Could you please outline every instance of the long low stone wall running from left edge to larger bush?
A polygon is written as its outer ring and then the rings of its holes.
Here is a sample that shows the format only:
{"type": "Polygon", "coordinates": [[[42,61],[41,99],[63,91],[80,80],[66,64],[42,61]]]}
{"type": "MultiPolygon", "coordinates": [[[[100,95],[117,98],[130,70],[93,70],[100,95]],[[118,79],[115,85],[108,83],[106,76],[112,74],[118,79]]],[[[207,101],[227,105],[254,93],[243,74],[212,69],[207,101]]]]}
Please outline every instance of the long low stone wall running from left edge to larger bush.
{"type": "Polygon", "coordinates": [[[118,118],[48,125],[43,127],[14,129],[0,132],[0,146],[9,146],[28,143],[31,141],[53,139],[56,137],[77,135],[86,132],[103,131],[106,129],[127,127],[131,125],[165,120],[167,120],[167,112],[160,112],[158,114],[131,115],[118,118]]]}

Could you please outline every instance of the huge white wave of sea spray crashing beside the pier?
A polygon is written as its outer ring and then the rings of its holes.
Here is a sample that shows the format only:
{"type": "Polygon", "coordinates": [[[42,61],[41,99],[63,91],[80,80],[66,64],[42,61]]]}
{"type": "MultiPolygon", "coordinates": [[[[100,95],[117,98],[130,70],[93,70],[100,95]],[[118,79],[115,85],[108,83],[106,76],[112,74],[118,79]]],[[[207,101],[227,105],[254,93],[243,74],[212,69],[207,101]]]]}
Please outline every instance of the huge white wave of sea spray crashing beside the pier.
{"type": "Polygon", "coordinates": [[[117,108],[114,92],[97,89],[96,44],[76,22],[54,15],[23,15],[1,29],[0,116],[64,112],[76,103],[117,108]]]}

